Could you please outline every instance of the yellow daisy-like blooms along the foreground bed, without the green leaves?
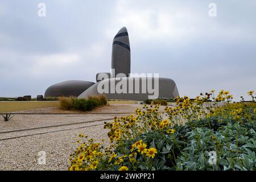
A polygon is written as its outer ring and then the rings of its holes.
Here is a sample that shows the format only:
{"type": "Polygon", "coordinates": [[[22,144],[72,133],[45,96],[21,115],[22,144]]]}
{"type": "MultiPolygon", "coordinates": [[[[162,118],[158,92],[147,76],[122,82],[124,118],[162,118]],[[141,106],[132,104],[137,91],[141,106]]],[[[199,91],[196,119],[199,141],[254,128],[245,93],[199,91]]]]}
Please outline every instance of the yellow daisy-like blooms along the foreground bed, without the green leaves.
{"type": "MultiPolygon", "coordinates": [[[[69,170],[97,170],[102,158],[107,159],[110,165],[117,165],[120,171],[128,170],[131,164],[137,163],[137,154],[144,159],[152,160],[158,151],[154,147],[148,147],[143,140],[138,140],[131,145],[128,154],[119,156],[119,153],[114,153],[114,149],[124,140],[135,139],[152,130],[175,137],[177,133],[175,125],[183,125],[185,122],[214,115],[224,118],[231,116],[239,121],[242,121],[242,117],[255,117],[246,113],[240,105],[237,109],[237,105],[232,104],[233,96],[228,91],[221,90],[216,97],[214,92],[215,90],[201,93],[195,99],[189,99],[187,96],[177,97],[174,106],[164,107],[163,114],[159,111],[160,105],[144,105],[143,110],[137,109],[133,115],[115,117],[113,122],[105,123],[104,126],[105,129],[109,129],[108,137],[111,143],[108,148],[101,147],[101,143],[94,143],[93,139],[88,140],[86,136],[79,134],[76,151],[71,155],[69,170]],[[129,166],[127,162],[130,162],[129,166]]],[[[254,100],[254,91],[248,94],[254,100]]],[[[219,119],[219,122],[222,122],[222,119],[219,119]]]]}

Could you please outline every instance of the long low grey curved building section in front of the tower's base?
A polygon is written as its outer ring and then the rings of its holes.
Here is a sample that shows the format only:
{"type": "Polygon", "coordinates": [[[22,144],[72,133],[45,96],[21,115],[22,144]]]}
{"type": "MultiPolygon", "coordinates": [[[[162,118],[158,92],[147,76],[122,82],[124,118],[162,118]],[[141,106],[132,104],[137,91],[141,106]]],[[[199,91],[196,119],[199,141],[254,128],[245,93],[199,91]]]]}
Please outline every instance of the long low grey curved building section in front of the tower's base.
{"type": "Polygon", "coordinates": [[[92,85],[89,89],[81,93],[79,98],[87,98],[88,96],[99,94],[105,94],[109,99],[133,101],[144,101],[156,98],[175,98],[179,96],[177,86],[174,80],[170,78],[122,77],[110,78],[97,82],[97,84],[92,85]],[[156,86],[155,79],[158,80],[158,86],[156,86]],[[154,92],[150,92],[150,89],[148,89],[148,82],[150,82],[150,80],[152,86],[150,85],[149,88],[152,88],[154,92]],[[126,85],[125,89],[118,89],[118,84],[120,85],[121,82],[122,86],[126,85]],[[104,89],[104,86],[106,85],[108,88],[104,89]],[[112,90],[114,92],[112,92],[112,90]]]}

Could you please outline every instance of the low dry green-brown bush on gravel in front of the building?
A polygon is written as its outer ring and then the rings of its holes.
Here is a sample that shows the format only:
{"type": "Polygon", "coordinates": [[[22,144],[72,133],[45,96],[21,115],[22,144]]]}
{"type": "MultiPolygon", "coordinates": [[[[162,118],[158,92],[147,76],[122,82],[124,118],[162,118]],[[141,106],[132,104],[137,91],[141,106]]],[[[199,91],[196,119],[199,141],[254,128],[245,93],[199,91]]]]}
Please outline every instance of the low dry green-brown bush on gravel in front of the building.
{"type": "Polygon", "coordinates": [[[60,97],[59,101],[60,109],[64,110],[90,111],[96,107],[107,104],[106,97],[104,95],[89,96],[87,100],[85,98],[60,97]]]}

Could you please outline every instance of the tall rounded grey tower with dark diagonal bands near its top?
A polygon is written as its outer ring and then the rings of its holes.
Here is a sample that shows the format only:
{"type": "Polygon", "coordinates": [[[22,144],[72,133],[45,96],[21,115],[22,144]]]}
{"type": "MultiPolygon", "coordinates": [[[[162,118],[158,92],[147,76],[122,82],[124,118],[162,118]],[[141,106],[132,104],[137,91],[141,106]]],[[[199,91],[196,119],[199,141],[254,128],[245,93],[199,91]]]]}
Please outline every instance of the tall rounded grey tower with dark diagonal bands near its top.
{"type": "Polygon", "coordinates": [[[130,42],[126,27],[121,28],[115,35],[112,44],[112,77],[129,77],[131,72],[130,42]],[[123,76],[117,76],[123,73],[123,76]]]}

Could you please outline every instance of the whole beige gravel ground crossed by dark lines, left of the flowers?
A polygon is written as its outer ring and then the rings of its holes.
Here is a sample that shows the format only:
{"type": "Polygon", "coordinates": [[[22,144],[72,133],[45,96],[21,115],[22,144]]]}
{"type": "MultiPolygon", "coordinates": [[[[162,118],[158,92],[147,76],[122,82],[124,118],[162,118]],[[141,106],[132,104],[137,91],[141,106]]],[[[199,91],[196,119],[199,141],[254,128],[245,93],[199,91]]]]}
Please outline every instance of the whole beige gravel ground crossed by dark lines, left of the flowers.
{"type": "Polygon", "coordinates": [[[104,122],[142,107],[113,104],[88,112],[56,107],[16,112],[11,121],[0,121],[0,170],[66,170],[79,133],[100,142],[108,138],[104,122]],[[38,164],[40,151],[46,152],[46,164],[38,164]]]}

